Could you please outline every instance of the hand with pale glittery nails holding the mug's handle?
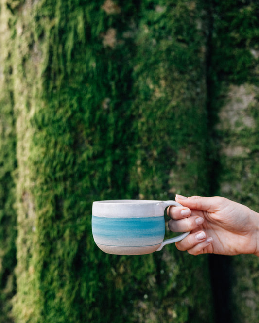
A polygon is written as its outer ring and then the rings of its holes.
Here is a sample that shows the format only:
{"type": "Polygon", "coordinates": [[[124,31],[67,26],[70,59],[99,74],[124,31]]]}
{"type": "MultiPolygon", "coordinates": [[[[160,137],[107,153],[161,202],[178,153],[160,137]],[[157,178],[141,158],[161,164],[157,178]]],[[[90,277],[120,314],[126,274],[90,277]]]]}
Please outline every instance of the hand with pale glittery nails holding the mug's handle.
{"type": "Polygon", "coordinates": [[[184,197],[175,200],[183,207],[170,207],[169,228],[173,232],[191,231],[176,242],[180,251],[191,255],[254,254],[259,256],[259,213],[224,197],[184,197]]]}

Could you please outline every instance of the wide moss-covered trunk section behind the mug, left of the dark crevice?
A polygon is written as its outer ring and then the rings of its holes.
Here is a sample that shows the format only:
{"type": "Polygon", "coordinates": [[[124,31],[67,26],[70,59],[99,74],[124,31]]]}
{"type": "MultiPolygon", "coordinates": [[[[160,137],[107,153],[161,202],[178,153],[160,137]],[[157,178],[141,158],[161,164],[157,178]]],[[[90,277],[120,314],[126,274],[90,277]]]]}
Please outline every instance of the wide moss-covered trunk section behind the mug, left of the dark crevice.
{"type": "MultiPolygon", "coordinates": [[[[18,263],[13,313],[19,322],[136,322],[139,315],[153,322],[161,317],[196,322],[198,316],[209,322],[211,308],[203,309],[201,289],[194,293],[196,285],[183,274],[187,255],[117,257],[94,246],[93,200],[173,198],[175,173],[176,190],[185,192],[206,177],[200,162],[206,125],[199,131],[193,125],[206,116],[205,83],[202,72],[195,72],[204,64],[203,36],[198,31],[196,39],[193,30],[198,8],[171,8],[166,1],[138,7],[125,1],[115,12],[109,10],[103,1],[39,1],[24,2],[15,13],[18,263]],[[190,35],[181,21],[184,15],[187,23],[189,13],[190,35]],[[169,31],[173,20],[179,25],[175,34],[169,31]],[[145,35],[144,26],[153,22],[145,35]],[[183,40],[177,39],[179,33],[183,40]],[[198,99],[197,91],[202,93],[198,99]],[[136,176],[138,166],[144,176],[136,176]]],[[[189,277],[200,281],[206,268],[207,258],[197,258],[188,265],[189,277]]]]}

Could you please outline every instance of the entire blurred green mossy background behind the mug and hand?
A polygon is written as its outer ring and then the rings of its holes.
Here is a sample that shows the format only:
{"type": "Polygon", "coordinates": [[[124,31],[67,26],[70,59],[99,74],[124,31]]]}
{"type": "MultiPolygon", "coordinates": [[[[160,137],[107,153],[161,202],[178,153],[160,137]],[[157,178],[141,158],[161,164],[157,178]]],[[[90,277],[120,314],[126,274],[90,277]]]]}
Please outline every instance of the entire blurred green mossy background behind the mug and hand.
{"type": "Polygon", "coordinates": [[[259,211],[258,16],[252,0],[0,0],[1,323],[258,323],[255,256],[114,256],[91,235],[100,199],[259,211]]]}

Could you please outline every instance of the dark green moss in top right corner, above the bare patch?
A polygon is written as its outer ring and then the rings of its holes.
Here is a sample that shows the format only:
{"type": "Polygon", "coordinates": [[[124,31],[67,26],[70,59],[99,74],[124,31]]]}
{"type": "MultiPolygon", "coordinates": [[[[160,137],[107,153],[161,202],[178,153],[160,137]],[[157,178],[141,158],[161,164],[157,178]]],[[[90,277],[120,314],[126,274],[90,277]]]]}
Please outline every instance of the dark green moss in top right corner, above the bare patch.
{"type": "Polygon", "coordinates": [[[242,84],[256,82],[256,60],[251,49],[258,50],[258,8],[253,1],[227,1],[213,7],[214,36],[212,65],[219,80],[242,84]]]}

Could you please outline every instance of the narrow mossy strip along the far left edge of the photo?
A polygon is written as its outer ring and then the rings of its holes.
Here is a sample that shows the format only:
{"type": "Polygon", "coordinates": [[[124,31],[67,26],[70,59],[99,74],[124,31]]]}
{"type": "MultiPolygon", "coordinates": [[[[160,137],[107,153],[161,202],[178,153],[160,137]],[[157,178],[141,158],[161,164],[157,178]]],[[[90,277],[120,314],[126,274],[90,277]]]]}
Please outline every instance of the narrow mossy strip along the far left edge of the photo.
{"type": "Polygon", "coordinates": [[[16,210],[14,175],[16,135],[14,89],[10,72],[8,12],[0,7],[0,322],[12,322],[11,299],[16,290],[16,210]],[[5,45],[4,45],[5,44],[5,45]]]}

